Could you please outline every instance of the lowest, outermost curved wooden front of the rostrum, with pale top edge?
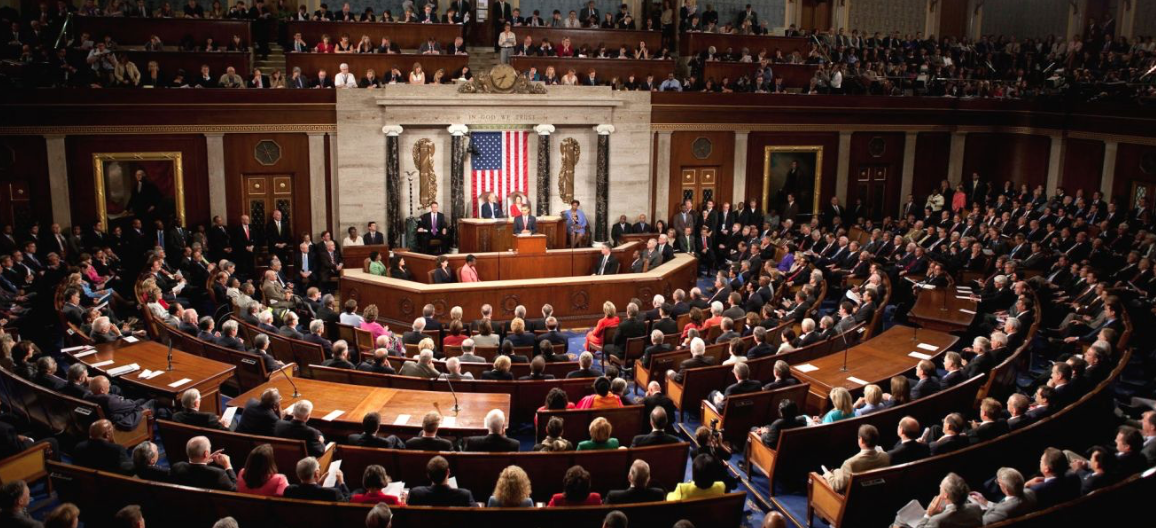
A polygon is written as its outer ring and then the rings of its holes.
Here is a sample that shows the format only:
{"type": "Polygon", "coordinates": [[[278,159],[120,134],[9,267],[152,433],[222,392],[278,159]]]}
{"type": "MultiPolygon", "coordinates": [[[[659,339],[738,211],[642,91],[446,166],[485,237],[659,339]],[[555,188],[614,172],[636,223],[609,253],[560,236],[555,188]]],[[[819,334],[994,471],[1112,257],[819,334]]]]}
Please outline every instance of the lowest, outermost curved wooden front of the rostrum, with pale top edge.
{"type": "MultiPolygon", "coordinates": [[[[533,268],[539,263],[520,266],[533,268]]],[[[578,276],[466,284],[422,284],[347,269],[340,290],[342,299],[357,299],[361,306],[376,304],[379,319],[392,322],[413,321],[427,304],[433,305],[439,318],[453,306],[461,306],[465,313],[480,313],[484,304],[494,306],[494,318],[499,320],[510,319],[518,305],[543,304],[551,304],[558,318],[593,318],[601,317],[605,300],[622,311],[631,298],[649,299],[655,293],[669,297],[676,289],[689,288],[694,285],[697,267],[694,256],[676,254],[674,260],[640,274],[590,276],[587,267],[587,273],[578,276]]]]}

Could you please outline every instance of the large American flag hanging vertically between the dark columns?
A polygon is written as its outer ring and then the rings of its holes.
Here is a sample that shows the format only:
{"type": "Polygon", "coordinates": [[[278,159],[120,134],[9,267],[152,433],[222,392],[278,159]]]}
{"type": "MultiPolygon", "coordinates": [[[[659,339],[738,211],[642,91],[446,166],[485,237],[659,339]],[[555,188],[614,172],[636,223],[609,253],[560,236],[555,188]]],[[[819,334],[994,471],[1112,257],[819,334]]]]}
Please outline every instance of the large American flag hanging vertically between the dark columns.
{"type": "Polygon", "coordinates": [[[529,192],[529,132],[475,132],[470,146],[477,154],[470,159],[474,168],[474,216],[477,216],[479,196],[498,195],[498,203],[514,192],[529,192]]]}

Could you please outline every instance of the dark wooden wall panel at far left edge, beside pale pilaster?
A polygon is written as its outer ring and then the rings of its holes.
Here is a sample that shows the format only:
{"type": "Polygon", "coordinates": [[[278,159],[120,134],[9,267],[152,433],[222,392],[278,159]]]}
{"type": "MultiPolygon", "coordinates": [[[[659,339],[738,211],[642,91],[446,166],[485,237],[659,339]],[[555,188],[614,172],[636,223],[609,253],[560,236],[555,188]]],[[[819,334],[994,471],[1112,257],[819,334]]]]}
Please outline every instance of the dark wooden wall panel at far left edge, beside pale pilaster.
{"type": "Polygon", "coordinates": [[[43,136],[0,137],[0,223],[27,228],[52,222],[47,147],[43,136]]]}

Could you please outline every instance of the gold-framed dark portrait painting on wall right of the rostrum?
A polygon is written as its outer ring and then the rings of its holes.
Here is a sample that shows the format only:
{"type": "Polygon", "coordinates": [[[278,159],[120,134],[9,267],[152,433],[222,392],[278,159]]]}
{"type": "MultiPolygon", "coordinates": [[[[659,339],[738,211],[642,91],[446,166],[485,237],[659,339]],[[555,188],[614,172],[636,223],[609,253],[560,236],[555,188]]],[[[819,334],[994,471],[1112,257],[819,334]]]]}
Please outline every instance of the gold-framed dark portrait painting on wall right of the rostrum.
{"type": "Polygon", "coordinates": [[[763,203],[786,214],[809,217],[817,214],[823,178],[822,146],[769,146],[763,153],[763,203]],[[794,195],[792,206],[787,196],[794,195]]]}

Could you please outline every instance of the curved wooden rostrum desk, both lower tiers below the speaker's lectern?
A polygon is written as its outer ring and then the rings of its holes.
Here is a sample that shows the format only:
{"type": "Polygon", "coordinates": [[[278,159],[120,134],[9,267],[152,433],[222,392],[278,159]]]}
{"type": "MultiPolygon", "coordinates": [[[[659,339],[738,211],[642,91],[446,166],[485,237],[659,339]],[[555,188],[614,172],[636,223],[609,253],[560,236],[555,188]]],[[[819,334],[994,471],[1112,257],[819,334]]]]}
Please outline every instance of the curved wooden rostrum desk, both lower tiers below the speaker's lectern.
{"type": "MultiPolygon", "coordinates": [[[[620,246],[623,247],[633,246],[620,246]]],[[[650,299],[655,293],[667,297],[680,288],[691,288],[697,273],[697,260],[688,254],[675,254],[674,260],[646,273],[620,275],[588,275],[593,268],[594,250],[557,250],[544,255],[519,255],[513,253],[479,255],[479,274],[484,277],[507,276],[506,274],[533,274],[541,278],[498,280],[474,283],[423,284],[370,275],[361,269],[347,269],[341,276],[342,299],[357,299],[360,306],[376,304],[378,318],[408,326],[422,313],[422,306],[432,304],[438,317],[444,317],[453,306],[461,306],[467,317],[481,313],[482,305],[494,306],[494,319],[511,319],[518,305],[536,310],[543,304],[554,306],[557,318],[598,319],[602,315],[602,302],[610,300],[620,312],[631,298],[650,299]],[[585,260],[588,252],[588,259],[585,260]],[[578,256],[584,255],[581,262],[578,256]],[[496,265],[483,268],[482,261],[492,256],[496,265]],[[554,260],[557,263],[551,263],[554,260]],[[504,261],[509,261],[503,263],[504,261]],[[539,275],[547,269],[548,277],[539,275]],[[496,272],[496,273],[495,273],[496,272]]],[[[616,256],[622,267],[629,267],[629,253],[616,256]]],[[[460,256],[462,260],[465,255],[460,256]]],[[[432,256],[406,253],[415,278],[425,280],[418,262],[432,256]]],[[[452,260],[452,259],[451,259],[452,260]]],[[[457,269],[457,262],[451,267],[457,269]]],[[[424,268],[429,269],[429,268],[424,268]]],[[[532,275],[532,276],[533,276],[532,275]]]]}

